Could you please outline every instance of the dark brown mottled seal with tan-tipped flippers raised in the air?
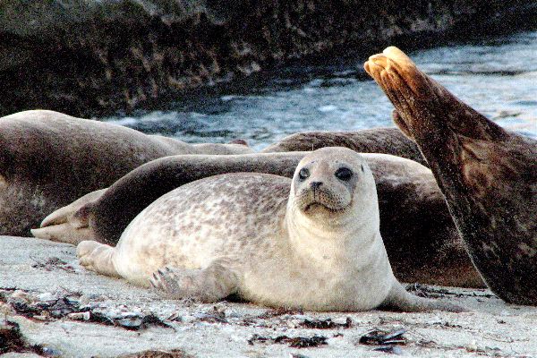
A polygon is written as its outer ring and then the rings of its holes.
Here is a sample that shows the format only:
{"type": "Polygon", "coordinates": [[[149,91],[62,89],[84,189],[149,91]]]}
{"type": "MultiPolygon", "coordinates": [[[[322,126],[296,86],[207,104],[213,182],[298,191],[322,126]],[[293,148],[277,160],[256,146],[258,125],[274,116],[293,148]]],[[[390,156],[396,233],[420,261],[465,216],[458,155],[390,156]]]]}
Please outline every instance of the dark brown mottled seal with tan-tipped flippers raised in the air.
{"type": "Polygon", "coordinates": [[[507,303],[537,305],[537,141],[492,123],[396,47],[364,67],[429,162],[487,286],[507,303]]]}

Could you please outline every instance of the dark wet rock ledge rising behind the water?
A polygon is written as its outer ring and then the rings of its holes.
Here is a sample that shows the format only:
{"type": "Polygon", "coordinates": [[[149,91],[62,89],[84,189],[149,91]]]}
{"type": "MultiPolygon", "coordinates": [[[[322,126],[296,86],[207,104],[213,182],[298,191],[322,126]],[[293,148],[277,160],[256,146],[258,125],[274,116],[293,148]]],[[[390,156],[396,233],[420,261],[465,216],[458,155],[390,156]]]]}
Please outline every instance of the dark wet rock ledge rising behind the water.
{"type": "MultiPolygon", "coordinates": [[[[0,115],[130,111],[294,59],[515,27],[533,0],[0,3],[0,115]]],[[[533,5],[532,5],[533,4],[533,5]]],[[[373,52],[374,52],[373,51],[373,52]]]]}

